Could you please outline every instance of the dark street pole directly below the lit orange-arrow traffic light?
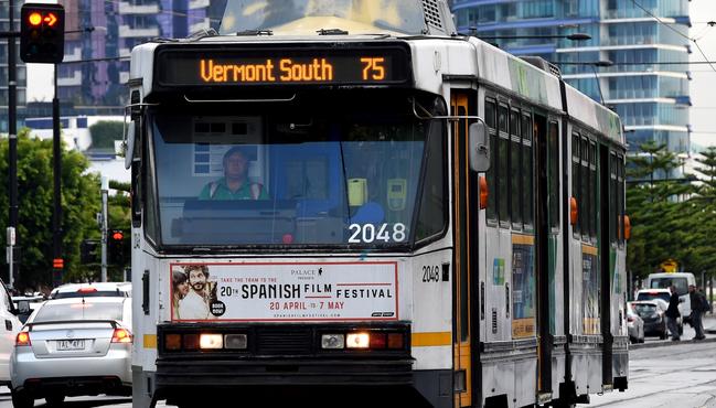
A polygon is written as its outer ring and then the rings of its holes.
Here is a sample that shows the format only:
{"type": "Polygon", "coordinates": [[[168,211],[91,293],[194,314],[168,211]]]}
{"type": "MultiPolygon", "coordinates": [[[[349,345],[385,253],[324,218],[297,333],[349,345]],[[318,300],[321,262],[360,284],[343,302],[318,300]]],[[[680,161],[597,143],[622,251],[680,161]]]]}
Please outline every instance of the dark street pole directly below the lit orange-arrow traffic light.
{"type": "MultiPolygon", "coordinates": [[[[57,64],[55,68],[55,97],[52,98],[52,158],[54,173],[54,206],[52,212],[53,259],[62,259],[62,146],[60,140],[60,99],[57,95],[57,64]]],[[[61,264],[64,268],[64,261],[61,264]]],[[[63,269],[55,268],[54,282],[62,283],[63,269]]]]}

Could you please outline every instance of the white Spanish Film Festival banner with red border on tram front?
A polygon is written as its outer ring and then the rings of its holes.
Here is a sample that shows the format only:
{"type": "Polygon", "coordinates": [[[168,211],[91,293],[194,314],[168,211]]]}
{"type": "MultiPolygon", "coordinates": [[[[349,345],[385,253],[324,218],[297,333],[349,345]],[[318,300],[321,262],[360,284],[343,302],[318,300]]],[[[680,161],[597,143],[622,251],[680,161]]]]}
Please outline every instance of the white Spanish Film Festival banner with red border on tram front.
{"type": "Polygon", "coordinates": [[[172,321],[397,320],[396,262],[172,264],[172,321]]]}

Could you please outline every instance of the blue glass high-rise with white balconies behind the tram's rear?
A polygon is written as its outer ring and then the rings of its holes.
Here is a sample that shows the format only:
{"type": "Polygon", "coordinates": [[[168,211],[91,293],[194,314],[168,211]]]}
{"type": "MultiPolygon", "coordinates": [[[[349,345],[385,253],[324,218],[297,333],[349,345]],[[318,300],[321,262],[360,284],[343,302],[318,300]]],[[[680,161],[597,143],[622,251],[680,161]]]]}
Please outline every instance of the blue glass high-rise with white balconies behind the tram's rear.
{"type": "Polygon", "coordinates": [[[688,0],[453,0],[452,10],[460,32],[542,56],[603,99],[621,116],[630,150],[648,140],[690,150],[688,0]],[[554,37],[577,32],[591,40],[554,37]]]}

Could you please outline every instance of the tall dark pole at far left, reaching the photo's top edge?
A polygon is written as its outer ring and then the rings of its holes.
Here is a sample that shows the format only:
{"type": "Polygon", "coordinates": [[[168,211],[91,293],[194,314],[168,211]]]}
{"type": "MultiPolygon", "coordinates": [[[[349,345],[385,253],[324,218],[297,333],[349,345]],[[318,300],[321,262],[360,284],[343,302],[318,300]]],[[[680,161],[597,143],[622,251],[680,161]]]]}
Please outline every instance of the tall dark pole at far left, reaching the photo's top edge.
{"type": "MultiPolygon", "coordinates": [[[[9,0],[10,31],[15,31],[14,0],[9,0]]],[[[18,61],[15,55],[15,37],[8,36],[8,178],[10,184],[10,227],[18,230],[18,61]]],[[[17,234],[17,233],[15,233],[17,234]]],[[[19,234],[18,234],[19,235],[19,234]]],[[[18,238],[15,237],[18,240],[18,238]]],[[[15,240],[15,245],[18,241],[15,240]]],[[[13,281],[20,269],[20,260],[10,257],[8,271],[9,281],[13,281]]]]}

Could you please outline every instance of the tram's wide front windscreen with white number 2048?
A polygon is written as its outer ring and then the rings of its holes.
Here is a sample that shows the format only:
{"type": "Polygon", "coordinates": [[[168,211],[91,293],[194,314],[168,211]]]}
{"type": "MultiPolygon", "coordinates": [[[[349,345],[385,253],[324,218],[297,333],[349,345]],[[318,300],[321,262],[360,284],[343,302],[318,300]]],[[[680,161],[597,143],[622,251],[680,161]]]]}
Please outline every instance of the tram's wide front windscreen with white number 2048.
{"type": "Polygon", "coordinates": [[[419,121],[412,114],[311,111],[287,120],[222,109],[156,110],[161,243],[407,245],[427,140],[432,132],[444,137],[440,121],[419,121]]]}

